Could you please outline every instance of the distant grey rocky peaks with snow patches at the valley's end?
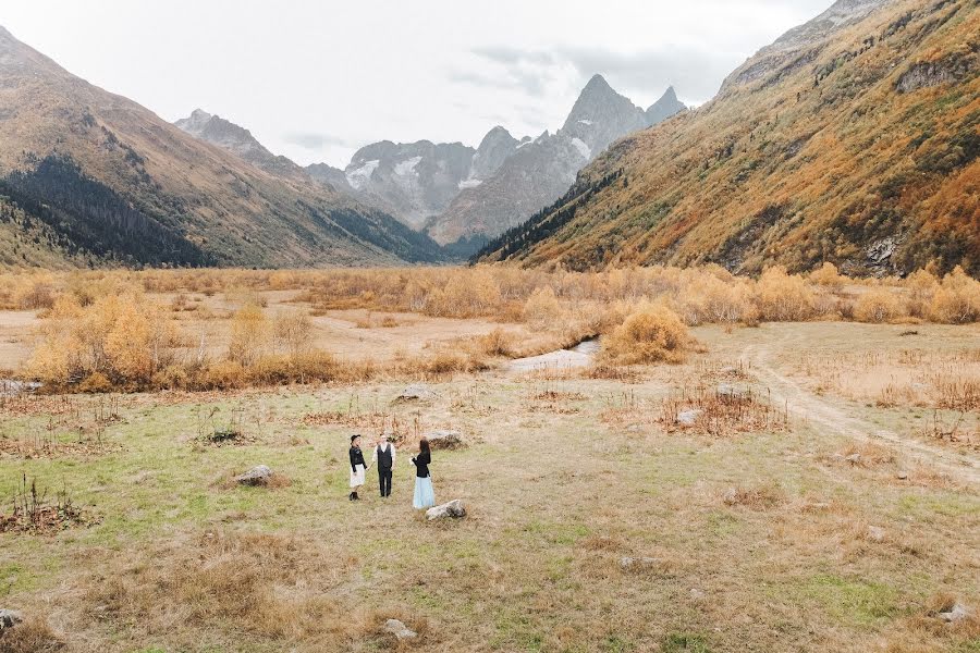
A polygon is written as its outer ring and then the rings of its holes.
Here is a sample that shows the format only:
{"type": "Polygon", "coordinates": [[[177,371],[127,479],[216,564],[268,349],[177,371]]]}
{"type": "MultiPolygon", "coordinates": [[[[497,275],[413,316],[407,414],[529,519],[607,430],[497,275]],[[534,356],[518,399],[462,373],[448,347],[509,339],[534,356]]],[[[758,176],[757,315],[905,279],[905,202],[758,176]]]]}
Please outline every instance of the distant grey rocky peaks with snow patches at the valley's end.
{"type": "MultiPolygon", "coordinates": [[[[498,125],[477,148],[382,140],[357,150],[344,170],[315,163],[305,172],[330,190],[469,255],[560,197],[610,143],[685,109],[671,87],[644,111],[595,75],[555,134],[517,139],[498,125]]],[[[268,172],[302,174],[298,165],[273,156],[247,130],[220,116],[197,109],[174,124],[268,172]]]]}

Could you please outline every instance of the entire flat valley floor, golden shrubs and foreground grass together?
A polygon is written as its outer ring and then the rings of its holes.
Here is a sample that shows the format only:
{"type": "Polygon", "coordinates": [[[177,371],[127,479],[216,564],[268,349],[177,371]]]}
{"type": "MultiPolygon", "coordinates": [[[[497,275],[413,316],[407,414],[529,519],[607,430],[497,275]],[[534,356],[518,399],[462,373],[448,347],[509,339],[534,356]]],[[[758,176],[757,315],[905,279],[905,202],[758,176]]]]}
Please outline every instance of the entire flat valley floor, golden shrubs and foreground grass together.
{"type": "Polygon", "coordinates": [[[44,385],[0,395],[0,651],[980,649],[966,275],[3,282],[0,367],[44,385]],[[404,455],[347,501],[351,433],[440,430],[464,519],[404,455]]]}

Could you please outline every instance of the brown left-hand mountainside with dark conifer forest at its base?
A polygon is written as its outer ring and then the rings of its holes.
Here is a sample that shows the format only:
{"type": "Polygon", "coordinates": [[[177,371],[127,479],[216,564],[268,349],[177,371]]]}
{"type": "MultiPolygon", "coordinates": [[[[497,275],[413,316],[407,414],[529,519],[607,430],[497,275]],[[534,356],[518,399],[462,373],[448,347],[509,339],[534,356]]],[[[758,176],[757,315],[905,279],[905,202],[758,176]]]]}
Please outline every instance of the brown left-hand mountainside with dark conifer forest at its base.
{"type": "Polygon", "coordinates": [[[389,215],[201,143],[2,28],[0,143],[0,195],[99,263],[396,264],[443,256],[389,215]]]}

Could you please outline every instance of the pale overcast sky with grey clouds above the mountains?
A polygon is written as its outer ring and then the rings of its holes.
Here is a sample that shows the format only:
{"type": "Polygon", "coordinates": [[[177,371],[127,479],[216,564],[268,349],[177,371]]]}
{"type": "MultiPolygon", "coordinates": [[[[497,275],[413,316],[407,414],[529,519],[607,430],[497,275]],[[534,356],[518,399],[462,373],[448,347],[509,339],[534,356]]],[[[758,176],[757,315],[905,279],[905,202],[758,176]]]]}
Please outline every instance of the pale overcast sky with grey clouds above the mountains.
{"type": "Polygon", "coordinates": [[[832,0],[29,0],[0,25],[173,121],[200,107],[299,163],[381,139],[561,126],[595,73],[647,107],[710,99],[832,0]]]}

